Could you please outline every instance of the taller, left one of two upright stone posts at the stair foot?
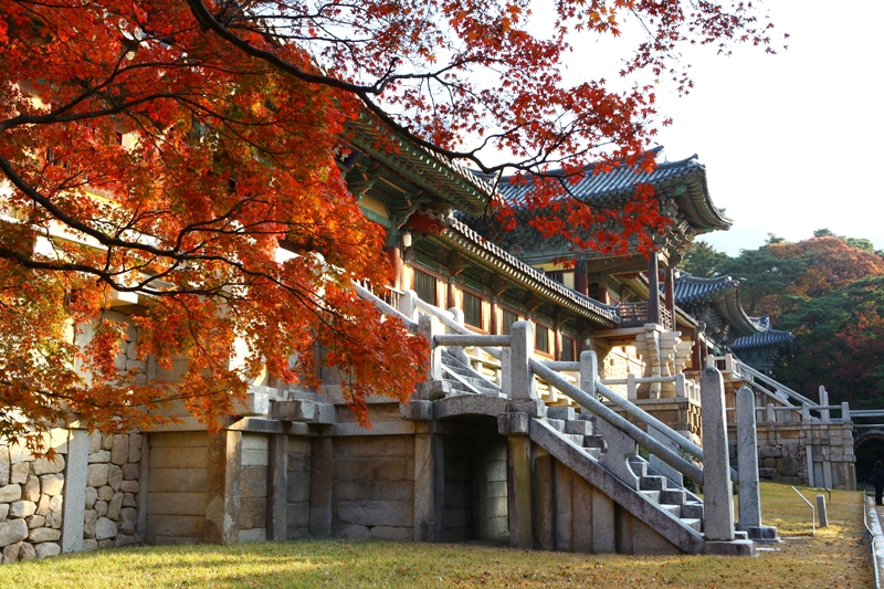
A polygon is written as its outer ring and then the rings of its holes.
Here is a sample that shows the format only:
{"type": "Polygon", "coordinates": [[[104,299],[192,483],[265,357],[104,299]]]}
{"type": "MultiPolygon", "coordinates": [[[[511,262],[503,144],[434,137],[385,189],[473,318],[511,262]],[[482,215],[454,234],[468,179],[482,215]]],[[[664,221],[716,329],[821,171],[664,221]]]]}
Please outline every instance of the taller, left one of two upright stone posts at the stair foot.
{"type": "Polygon", "coordinates": [[[722,372],[705,368],[699,376],[703,417],[703,493],[705,535],[709,540],[734,539],[734,495],[727,448],[725,385],[722,372]]]}

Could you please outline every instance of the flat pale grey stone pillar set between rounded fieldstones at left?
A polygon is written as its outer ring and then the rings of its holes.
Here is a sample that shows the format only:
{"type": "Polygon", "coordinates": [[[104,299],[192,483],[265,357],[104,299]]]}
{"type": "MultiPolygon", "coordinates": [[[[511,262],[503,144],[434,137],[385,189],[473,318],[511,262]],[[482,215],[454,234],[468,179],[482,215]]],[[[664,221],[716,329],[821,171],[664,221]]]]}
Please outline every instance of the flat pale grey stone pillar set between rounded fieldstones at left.
{"type": "MultiPolygon", "coordinates": [[[[90,432],[70,430],[67,463],[64,467],[64,503],[62,504],[62,553],[83,550],[83,518],[86,515],[86,474],[90,460],[90,432]]],[[[146,509],[146,505],[139,505],[146,509]]]]}

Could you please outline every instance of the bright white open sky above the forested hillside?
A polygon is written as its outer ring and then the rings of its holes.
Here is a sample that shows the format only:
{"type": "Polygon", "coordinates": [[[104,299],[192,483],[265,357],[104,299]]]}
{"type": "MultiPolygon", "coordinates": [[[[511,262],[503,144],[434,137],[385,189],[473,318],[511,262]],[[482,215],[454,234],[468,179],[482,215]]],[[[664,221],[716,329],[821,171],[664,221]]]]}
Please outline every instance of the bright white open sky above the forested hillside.
{"type": "MultiPolygon", "coordinates": [[[[720,56],[687,48],[682,59],[696,87],[686,97],[665,88],[657,95],[674,119],[660,134],[666,157],[696,154],[713,201],[734,220],[729,231],[701,239],[737,255],[768,233],[800,241],[828,228],[884,249],[884,2],[760,6],[776,32],[791,35],[780,40],[787,51],[737,46],[720,56]]],[[[579,76],[594,60],[576,53],[569,70],[579,76]]]]}

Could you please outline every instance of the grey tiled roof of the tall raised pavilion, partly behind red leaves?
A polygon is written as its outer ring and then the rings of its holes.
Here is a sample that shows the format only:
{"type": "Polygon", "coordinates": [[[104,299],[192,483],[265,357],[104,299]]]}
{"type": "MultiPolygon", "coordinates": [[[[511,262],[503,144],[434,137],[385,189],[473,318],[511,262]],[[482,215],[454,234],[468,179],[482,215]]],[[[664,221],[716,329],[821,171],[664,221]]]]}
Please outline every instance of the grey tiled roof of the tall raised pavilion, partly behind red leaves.
{"type": "MultiPolygon", "coordinates": [[[[652,152],[660,157],[662,148],[655,148],[652,152]]],[[[693,155],[677,161],[660,161],[651,172],[627,166],[602,173],[593,173],[590,169],[579,182],[569,186],[569,190],[577,199],[603,206],[631,198],[635,185],[650,183],[657,189],[660,196],[672,198],[687,221],[699,232],[728,229],[734,222],[712,202],[706,182],[706,167],[696,158],[693,155]],[[681,190],[667,193],[667,188],[681,190]]],[[[528,190],[528,186],[513,183],[509,177],[501,178],[501,196],[516,207],[525,204],[528,190]]]]}

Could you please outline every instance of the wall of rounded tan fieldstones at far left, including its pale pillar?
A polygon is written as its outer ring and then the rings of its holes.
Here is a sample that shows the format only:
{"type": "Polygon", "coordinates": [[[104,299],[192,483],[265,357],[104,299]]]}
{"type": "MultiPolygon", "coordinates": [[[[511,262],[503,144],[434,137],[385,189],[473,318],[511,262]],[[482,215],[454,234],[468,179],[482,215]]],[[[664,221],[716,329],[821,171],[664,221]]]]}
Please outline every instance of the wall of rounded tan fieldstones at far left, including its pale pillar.
{"type": "Polygon", "coordinates": [[[55,429],[46,445],[0,444],[2,561],[136,543],[143,437],[55,429]]]}

